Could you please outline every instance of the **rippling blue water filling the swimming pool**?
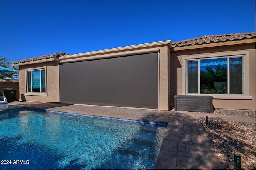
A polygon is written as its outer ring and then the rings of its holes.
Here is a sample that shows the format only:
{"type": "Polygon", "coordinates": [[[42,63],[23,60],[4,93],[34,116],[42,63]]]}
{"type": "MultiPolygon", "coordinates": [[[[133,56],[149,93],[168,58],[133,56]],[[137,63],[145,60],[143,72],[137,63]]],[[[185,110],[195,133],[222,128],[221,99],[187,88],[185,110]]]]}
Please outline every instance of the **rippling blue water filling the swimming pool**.
{"type": "Polygon", "coordinates": [[[45,111],[0,114],[0,169],[153,169],[166,125],[45,111]]]}

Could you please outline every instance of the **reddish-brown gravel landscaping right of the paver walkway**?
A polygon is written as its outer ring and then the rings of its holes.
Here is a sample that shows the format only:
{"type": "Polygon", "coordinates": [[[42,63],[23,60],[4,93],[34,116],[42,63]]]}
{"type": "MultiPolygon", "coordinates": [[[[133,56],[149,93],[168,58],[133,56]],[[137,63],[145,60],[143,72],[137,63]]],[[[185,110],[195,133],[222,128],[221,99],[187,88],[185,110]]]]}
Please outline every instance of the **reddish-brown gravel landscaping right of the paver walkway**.
{"type": "MultiPolygon", "coordinates": [[[[216,109],[214,114],[250,116],[255,111],[216,109]]],[[[242,169],[256,169],[255,123],[199,119],[224,169],[234,169],[234,154],[242,157],[242,169]]]]}

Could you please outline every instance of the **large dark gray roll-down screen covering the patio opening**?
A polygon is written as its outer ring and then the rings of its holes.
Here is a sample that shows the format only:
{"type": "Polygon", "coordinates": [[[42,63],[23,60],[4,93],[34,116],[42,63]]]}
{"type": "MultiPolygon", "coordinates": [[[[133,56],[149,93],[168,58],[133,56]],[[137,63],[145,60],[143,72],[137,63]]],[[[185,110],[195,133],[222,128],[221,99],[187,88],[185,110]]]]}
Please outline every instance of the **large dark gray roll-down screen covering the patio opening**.
{"type": "Polygon", "coordinates": [[[60,64],[60,102],[158,109],[157,56],[60,64]]]}

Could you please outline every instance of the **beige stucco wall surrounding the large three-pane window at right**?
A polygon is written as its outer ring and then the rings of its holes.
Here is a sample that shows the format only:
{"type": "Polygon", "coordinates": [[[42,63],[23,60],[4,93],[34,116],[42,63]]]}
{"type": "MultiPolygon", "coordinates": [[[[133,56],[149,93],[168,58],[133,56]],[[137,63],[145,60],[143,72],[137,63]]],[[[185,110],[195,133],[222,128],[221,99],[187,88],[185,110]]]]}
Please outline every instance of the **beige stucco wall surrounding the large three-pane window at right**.
{"type": "MultiPolygon", "coordinates": [[[[248,43],[242,45],[228,45],[223,47],[210,47],[210,48],[201,48],[201,49],[189,49],[182,51],[171,51],[171,105],[174,106],[174,95],[185,95],[185,74],[184,66],[182,61],[184,57],[188,56],[204,56],[204,55],[225,55],[231,53],[246,53],[248,54],[248,64],[246,74],[248,76],[246,80],[246,90],[248,90],[245,99],[216,99],[213,98],[213,104],[215,108],[220,109],[251,109],[255,110],[256,103],[256,81],[255,81],[255,43],[248,43]],[[249,74],[249,75],[248,75],[249,74]],[[177,76],[175,80],[175,76],[177,76]],[[176,88],[175,88],[176,87],[176,88]],[[250,98],[250,99],[248,99],[250,98]]],[[[244,61],[245,62],[245,61],[244,61]]],[[[244,92],[245,93],[245,92],[244,92]]]]}

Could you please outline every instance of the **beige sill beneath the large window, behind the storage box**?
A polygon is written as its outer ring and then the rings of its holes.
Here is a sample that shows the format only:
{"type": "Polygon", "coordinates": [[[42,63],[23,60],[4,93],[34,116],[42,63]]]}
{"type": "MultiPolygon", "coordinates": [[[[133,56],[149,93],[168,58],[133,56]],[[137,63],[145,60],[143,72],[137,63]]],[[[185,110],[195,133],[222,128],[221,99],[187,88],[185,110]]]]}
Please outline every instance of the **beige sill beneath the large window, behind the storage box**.
{"type": "Polygon", "coordinates": [[[240,100],[252,100],[252,96],[245,96],[239,94],[187,94],[191,96],[212,96],[213,99],[240,99],[240,100]]]}

